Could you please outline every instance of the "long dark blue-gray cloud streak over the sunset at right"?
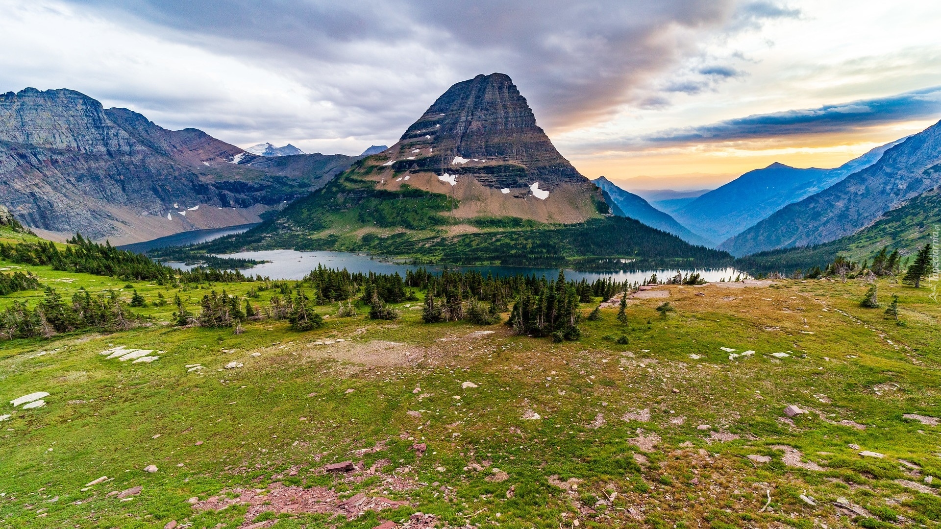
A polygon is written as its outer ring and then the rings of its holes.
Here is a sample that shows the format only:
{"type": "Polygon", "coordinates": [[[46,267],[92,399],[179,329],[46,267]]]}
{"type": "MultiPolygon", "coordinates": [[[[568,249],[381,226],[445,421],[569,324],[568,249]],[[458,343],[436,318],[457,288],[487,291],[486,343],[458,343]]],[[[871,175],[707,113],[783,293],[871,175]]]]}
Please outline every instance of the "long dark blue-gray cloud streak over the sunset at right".
{"type": "Polygon", "coordinates": [[[826,104],[819,108],[758,114],[709,125],[671,129],[630,140],[641,145],[688,145],[785,136],[847,133],[905,120],[941,118],[941,87],[922,88],[894,96],[826,104]]]}

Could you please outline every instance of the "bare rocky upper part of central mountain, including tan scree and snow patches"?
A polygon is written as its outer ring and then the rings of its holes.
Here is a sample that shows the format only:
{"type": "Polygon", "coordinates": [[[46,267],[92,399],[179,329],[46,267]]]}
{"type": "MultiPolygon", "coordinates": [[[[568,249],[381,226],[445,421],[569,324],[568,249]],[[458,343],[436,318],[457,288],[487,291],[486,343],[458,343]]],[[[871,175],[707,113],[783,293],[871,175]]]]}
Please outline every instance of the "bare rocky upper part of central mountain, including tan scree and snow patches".
{"type": "Polygon", "coordinates": [[[445,193],[453,218],[582,222],[598,189],[555,150],[508,75],[477,75],[444,92],[399,141],[351,169],[377,188],[445,193]]]}

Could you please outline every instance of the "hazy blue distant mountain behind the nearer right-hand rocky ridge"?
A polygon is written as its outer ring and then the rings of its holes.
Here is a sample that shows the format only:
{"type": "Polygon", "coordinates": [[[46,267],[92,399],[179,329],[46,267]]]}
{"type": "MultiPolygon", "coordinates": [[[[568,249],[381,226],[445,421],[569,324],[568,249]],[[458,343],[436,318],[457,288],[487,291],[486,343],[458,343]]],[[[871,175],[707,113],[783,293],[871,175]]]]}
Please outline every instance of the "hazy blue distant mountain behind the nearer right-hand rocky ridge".
{"type": "Polygon", "coordinates": [[[775,162],[713,189],[678,209],[673,216],[683,226],[718,245],[789,203],[804,200],[869,167],[898,141],[877,147],[838,168],[792,168],[775,162]]]}

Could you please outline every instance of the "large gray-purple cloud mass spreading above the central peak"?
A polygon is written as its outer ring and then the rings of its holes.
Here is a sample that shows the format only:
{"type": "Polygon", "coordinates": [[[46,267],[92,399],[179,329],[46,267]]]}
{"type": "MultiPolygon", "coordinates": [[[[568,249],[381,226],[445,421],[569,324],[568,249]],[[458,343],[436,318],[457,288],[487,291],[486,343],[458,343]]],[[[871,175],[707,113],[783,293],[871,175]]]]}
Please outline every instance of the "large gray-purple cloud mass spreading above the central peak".
{"type": "MultiPolygon", "coordinates": [[[[738,74],[704,66],[673,84],[658,81],[698,56],[704,40],[799,15],[776,3],[743,0],[71,2],[136,31],[290,72],[310,88],[308,97],[335,110],[328,120],[222,116],[213,121],[216,131],[238,136],[254,127],[280,137],[390,140],[444,89],[477,73],[508,73],[550,128],[603,120],[623,104],[669,104],[672,92],[697,93],[738,74]]],[[[175,105],[180,110],[173,121],[192,112],[199,120],[189,124],[206,126],[199,94],[183,104],[190,97],[124,93],[119,99],[145,113],[175,105]]]]}

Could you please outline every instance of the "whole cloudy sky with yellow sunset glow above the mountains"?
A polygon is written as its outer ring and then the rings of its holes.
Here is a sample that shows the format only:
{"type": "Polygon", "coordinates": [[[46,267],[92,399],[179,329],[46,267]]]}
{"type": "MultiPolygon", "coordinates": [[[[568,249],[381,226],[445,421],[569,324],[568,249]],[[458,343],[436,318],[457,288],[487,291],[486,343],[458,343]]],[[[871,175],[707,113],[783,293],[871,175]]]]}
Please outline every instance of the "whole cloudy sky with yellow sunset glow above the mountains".
{"type": "Polygon", "coordinates": [[[935,0],[0,0],[0,90],[73,88],[247,147],[391,145],[509,74],[590,178],[836,167],[941,119],[935,0]]]}

